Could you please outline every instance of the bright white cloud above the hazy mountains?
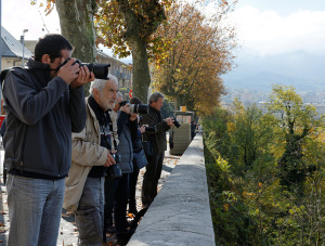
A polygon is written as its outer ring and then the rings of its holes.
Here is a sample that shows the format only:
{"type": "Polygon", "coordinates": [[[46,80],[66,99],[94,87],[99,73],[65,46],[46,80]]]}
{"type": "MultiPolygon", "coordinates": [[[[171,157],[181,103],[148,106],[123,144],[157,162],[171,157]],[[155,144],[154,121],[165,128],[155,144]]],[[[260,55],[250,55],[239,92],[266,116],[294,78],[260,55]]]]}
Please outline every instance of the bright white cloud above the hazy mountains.
{"type": "Polygon", "coordinates": [[[232,14],[244,49],[260,55],[295,51],[325,54],[325,11],[298,10],[289,15],[244,7],[232,14]]]}

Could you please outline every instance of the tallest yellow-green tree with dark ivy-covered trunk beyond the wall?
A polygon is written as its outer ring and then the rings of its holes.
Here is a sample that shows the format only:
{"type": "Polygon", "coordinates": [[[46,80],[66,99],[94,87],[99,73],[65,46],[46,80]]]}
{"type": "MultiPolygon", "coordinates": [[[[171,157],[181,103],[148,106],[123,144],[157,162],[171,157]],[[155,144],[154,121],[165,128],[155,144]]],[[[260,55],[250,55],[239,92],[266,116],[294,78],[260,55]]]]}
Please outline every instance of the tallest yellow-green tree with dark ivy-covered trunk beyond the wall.
{"type": "Polygon", "coordinates": [[[316,112],[312,105],[303,105],[301,96],[294,88],[273,86],[268,104],[272,126],[283,140],[284,152],[278,159],[281,184],[303,192],[303,182],[313,171],[314,165],[303,159],[303,143],[312,130],[317,127],[316,112]]]}

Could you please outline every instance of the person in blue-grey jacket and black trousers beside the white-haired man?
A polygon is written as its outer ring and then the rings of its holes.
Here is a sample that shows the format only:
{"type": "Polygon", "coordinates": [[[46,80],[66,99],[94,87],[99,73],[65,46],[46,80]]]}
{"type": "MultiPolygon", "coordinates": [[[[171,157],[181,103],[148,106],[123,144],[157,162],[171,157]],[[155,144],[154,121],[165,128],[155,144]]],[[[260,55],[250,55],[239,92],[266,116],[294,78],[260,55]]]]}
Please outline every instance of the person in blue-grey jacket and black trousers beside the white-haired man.
{"type": "MultiPolygon", "coordinates": [[[[129,173],[133,172],[133,147],[132,142],[138,132],[138,115],[131,112],[129,102],[122,101],[122,94],[118,94],[117,105],[110,115],[116,118],[118,147],[117,154],[120,156],[119,167],[121,169],[121,177],[117,179],[106,178],[105,181],[105,222],[109,222],[110,212],[113,210],[112,200],[114,200],[114,221],[116,225],[116,237],[118,243],[123,241],[128,233],[128,221],[126,219],[126,211],[129,196],[129,173]],[[117,114],[115,117],[114,115],[117,114]],[[134,133],[135,132],[135,133],[134,133]],[[114,191],[115,190],[115,191],[114,191]]],[[[104,233],[108,224],[105,224],[104,233]]]]}

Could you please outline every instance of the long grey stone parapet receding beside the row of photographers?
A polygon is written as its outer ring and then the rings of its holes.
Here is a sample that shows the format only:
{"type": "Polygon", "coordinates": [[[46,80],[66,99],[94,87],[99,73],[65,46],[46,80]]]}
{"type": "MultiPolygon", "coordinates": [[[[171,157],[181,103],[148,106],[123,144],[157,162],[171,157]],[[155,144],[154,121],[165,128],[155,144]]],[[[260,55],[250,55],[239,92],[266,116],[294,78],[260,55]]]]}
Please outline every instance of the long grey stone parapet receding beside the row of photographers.
{"type": "Polygon", "coordinates": [[[155,245],[216,245],[200,134],[180,158],[128,244],[155,245]]]}

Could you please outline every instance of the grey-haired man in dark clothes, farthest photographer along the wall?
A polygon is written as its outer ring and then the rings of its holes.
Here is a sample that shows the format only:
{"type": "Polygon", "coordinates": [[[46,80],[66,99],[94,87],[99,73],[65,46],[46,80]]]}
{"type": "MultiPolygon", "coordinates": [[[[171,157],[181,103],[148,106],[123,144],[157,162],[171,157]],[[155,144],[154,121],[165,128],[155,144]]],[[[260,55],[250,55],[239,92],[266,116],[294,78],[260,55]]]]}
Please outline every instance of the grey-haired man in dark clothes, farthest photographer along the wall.
{"type": "Polygon", "coordinates": [[[154,146],[153,155],[146,155],[147,165],[143,176],[142,206],[148,207],[157,195],[158,181],[160,179],[165,151],[167,150],[166,131],[173,126],[173,118],[162,118],[161,107],[165,96],[160,92],[155,92],[150,98],[147,115],[143,115],[143,124],[155,127],[155,132],[146,131],[144,140],[151,141],[154,146]]]}

